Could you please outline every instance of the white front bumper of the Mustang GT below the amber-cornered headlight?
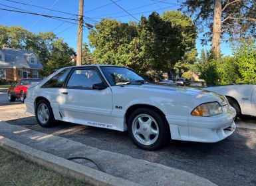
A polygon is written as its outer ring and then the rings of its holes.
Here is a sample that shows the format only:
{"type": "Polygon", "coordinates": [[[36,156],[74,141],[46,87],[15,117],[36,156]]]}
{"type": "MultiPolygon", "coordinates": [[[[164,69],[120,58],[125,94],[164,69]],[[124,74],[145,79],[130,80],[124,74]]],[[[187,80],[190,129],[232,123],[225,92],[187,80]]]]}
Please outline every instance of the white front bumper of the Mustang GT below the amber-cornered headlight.
{"type": "Polygon", "coordinates": [[[235,131],[235,110],[211,117],[166,117],[172,140],[214,143],[224,140],[235,131]]]}

